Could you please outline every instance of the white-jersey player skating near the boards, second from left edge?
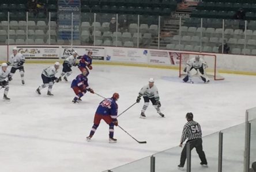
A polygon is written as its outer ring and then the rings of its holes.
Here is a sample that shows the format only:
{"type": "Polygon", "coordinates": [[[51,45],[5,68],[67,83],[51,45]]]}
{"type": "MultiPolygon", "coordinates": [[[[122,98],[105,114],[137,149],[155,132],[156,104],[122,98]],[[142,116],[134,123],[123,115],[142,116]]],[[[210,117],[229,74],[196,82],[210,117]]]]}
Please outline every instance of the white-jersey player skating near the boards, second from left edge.
{"type": "Polygon", "coordinates": [[[18,49],[16,47],[13,48],[13,54],[10,56],[9,61],[7,62],[7,65],[13,65],[12,69],[10,71],[10,75],[13,76],[14,73],[18,70],[20,70],[20,77],[21,77],[21,83],[22,85],[25,84],[24,81],[24,64],[25,57],[18,53],[18,49]]]}

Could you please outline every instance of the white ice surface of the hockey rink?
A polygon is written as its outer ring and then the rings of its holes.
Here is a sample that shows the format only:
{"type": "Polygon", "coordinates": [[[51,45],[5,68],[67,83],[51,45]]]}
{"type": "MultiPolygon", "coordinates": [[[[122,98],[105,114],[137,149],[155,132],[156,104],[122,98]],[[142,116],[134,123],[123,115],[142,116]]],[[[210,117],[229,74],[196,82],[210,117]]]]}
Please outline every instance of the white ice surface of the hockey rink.
{"type": "MultiPolygon", "coordinates": [[[[51,64],[26,64],[25,85],[16,72],[10,83],[11,101],[0,101],[0,171],[5,172],[99,172],[178,146],[187,112],[202,127],[203,135],[244,122],[246,109],[256,104],[256,77],[224,75],[225,80],[204,84],[182,83],[178,71],[114,65],[93,65],[89,84],[96,93],[111,97],[118,92],[119,113],[133,104],[143,85],[155,78],[165,118],[149,105],[146,119],[140,119],[143,101],[121,115],[119,125],[138,140],[115,128],[118,143],[108,143],[108,125],[101,122],[91,142],[85,137],[101,97],[86,93],[73,104],[70,88],[80,71],[73,68],[69,82],[55,83],[53,97],[35,90],[42,84],[42,70],[51,64]]],[[[57,73],[59,77],[62,67],[57,73]]],[[[0,90],[2,98],[3,89],[0,90]]],[[[244,140],[243,140],[244,141],[244,140]]],[[[180,151],[182,149],[180,148],[180,151]]],[[[207,152],[206,152],[207,156],[207,152]]],[[[179,164],[179,159],[172,161],[179,164]]]]}

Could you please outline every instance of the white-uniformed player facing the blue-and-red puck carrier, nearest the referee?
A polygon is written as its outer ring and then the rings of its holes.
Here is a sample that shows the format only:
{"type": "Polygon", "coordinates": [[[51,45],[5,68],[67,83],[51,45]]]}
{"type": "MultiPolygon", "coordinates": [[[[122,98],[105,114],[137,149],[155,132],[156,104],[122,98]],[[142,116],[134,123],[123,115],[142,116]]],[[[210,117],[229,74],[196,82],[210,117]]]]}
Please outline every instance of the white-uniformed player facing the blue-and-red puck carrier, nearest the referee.
{"type": "Polygon", "coordinates": [[[156,85],[154,85],[154,79],[150,78],[149,79],[149,84],[145,85],[144,87],[141,88],[141,91],[139,92],[139,95],[137,97],[137,103],[140,103],[141,96],[143,96],[144,99],[144,105],[141,110],[141,116],[140,118],[146,118],[145,111],[146,108],[148,108],[149,105],[149,100],[152,102],[153,107],[156,108],[157,113],[161,116],[164,117],[164,114],[161,113],[160,107],[161,103],[159,101],[159,93],[156,85]]]}

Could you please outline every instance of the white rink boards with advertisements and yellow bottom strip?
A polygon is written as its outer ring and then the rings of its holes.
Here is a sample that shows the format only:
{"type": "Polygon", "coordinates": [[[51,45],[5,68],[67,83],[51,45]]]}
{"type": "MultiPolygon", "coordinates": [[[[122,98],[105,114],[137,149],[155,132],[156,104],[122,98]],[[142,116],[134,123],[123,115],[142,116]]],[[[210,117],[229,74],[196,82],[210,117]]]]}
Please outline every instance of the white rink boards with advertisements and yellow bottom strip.
{"type": "MultiPolygon", "coordinates": [[[[12,48],[17,46],[27,62],[61,61],[71,54],[71,48],[82,55],[93,51],[93,64],[132,65],[140,67],[179,68],[179,54],[175,50],[157,50],[143,48],[119,48],[110,46],[63,46],[63,45],[1,45],[0,61],[6,61],[12,48]]],[[[189,52],[186,52],[189,53],[189,52]]],[[[193,52],[191,52],[193,53],[193,52]]],[[[213,53],[203,53],[213,54],[213,53]]],[[[216,54],[217,70],[220,73],[256,75],[256,57],[216,54]]]]}

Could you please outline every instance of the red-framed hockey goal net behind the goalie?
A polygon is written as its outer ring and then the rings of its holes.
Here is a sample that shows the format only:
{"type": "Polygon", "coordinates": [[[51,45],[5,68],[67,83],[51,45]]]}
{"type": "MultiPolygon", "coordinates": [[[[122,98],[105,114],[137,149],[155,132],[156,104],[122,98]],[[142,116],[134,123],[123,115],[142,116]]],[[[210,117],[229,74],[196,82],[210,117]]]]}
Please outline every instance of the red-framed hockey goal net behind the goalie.
{"type": "Polygon", "coordinates": [[[224,77],[220,75],[217,70],[217,58],[214,54],[203,53],[180,53],[179,57],[179,77],[186,75],[184,69],[186,68],[186,62],[195,56],[199,56],[207,63],[208,68],[205,69],[205,74],[213,78],[214,80],[224,80],[224,77]]]}

